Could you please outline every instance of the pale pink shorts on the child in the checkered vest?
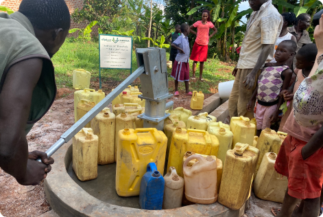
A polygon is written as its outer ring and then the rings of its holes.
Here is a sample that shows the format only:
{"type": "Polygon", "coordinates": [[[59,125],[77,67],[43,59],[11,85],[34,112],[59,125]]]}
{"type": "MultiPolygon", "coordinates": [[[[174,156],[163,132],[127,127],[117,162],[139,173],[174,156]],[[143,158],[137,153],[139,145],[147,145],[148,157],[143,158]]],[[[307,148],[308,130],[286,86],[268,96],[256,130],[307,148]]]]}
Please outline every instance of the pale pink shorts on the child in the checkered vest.
{"type": "Polygon", "coordinates": [[[257,104],[256,109],[256,128],[257,130],[265,130],[265,128],[270,128],[270,116],[276,111],[277,104],[273,106],[262,106],[257,104]]]}

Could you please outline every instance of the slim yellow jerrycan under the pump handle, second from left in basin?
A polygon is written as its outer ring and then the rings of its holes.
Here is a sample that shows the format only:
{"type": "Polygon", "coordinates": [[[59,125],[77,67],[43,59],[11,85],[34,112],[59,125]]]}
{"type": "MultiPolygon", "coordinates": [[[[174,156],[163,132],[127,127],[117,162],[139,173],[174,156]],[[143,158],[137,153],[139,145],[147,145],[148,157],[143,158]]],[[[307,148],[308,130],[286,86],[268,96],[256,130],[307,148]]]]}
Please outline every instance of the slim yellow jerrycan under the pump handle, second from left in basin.
{"type": "Polygon", "coordinates": [[[93,133],[99,137],[97,164],[115,162],[115,114],[106,108],[91,120],[93,133]]]}

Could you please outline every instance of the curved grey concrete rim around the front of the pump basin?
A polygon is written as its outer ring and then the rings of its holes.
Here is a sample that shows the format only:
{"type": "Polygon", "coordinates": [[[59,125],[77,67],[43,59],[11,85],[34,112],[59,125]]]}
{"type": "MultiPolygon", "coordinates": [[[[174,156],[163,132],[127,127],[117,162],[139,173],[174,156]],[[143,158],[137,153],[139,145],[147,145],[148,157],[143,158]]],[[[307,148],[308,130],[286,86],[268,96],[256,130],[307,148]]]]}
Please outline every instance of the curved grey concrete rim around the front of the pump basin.
{"type": "MultiPolygon", "coordinates": [[[[80,185],[75,183],[67,173],[72,161],[71,141],[64,144],[54,155],[55,163],[45,179],[45,192],[51,208],[58,216],[223,216],[240,217],[244,214],[246,205],[239,210],[231,210],[219,203],[211,205],[189,205],[167,210],[143,210],[105,203],[95,198],[80,185]]],[[[99,178],[98,178],[99,179],[99,178]]],[[[87,185],[91,181],[82,184],[87,185]]],[[[96,189],[109,188],[114,190],[112,183],[101,182],[96,189]]],[[[85,188],[85,187],[84,187],[85,188]]],[[[95,194],[100,194],[99,192],[95,194]]],[[[104,197],[104,196],[103,196],[104,197]]],[[[134,200],[123,198],[124,200],[134,200]]],[[[108,200],[108,198],[106,199],[108,200]]],[[[129,201],[130,202],[130,201],[129,201]]]]}

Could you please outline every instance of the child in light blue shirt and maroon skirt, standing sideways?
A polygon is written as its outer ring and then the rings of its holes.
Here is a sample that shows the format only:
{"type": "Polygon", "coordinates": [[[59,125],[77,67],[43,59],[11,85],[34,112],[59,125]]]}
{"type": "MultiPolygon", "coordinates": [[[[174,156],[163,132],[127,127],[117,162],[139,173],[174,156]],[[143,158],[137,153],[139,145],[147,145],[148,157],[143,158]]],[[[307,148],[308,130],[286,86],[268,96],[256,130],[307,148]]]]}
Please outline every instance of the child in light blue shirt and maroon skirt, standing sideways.
{"type": "Polygon", "coordinates": [[[175,79],[175,96],[180,95],[178,93],[178,82],[185,82],[186,94],[192,95],[192,92],[189,91],[189,25],[183,23],[180,25],[180,31],[182,34],[171,43],[171,47],[178,49],[179,53],[177,54],[174,67],[171,69],[171,78],[175,79]]]}

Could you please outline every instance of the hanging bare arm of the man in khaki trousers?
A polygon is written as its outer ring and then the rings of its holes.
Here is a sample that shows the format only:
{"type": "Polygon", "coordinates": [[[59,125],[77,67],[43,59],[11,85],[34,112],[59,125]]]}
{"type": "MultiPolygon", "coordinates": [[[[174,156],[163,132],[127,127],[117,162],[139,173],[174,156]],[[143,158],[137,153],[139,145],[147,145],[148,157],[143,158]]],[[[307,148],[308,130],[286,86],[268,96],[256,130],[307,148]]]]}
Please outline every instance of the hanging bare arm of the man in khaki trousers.
{"type": "Polygon", "coordinates": [[[252,87],[254,87],[254,80],[256,80],[256,74],[258,73],[259,69],[261,69],[261,67],[267,60],[267,57],[272,51],[272,49],[274,49],[274,45],[269,45],[269,44],[263,45],[263,48],[261,49],[261,54],[259,55],[256,65],[243,81],[243,83],[245,83],[245,86],[244,86],[245,88],[250,90],[252,89],[252,87]]]}

